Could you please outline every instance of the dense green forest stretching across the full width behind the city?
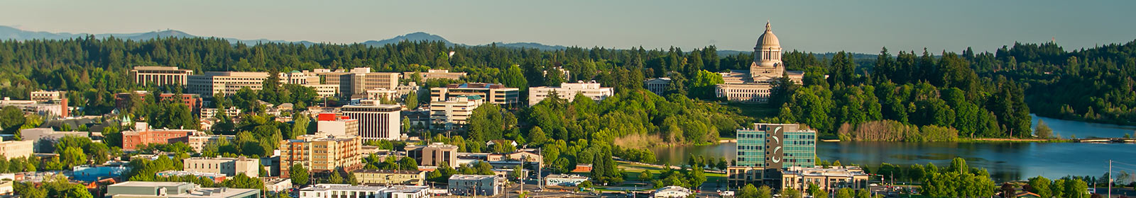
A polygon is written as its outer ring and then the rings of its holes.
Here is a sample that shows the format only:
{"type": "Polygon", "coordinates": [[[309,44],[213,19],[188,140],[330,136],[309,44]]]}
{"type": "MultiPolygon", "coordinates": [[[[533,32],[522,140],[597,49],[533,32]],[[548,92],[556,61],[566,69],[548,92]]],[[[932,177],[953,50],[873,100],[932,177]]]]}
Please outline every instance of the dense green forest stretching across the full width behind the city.
{"type": "MultiPolygon", "coordinates": [[[[804,85],[782,81],[775,92],[774,104],[768,105],[776,109],[778,115],[766,121],[802,122],[822,134],[845,131],[847,138],[859,137],[854,131],[871,131],[858,130],[862,123],[882,120],[896,121],[899,127],[937,126],[942,129],[934,130],[947,130],[955,137],[1029,137],[1028,114],[1031,112],[1133,124],[1136,120],[1131,79],[1136,70],[1133,43],[1072,52],[1055,44],[1016,44],[996,49],[994,53],[967,50],[961,54],[910,51],[892,55],[885,49],[876,60],[853,59],[851,53],[835,53],[826,59],[793,51],[784,55],[784,61],[790,70],[808,71],[804,85]],[[871,66],[862,66],[864,63],[871,66]]],[[[442,42],[309,46],[229,44],[219,38],[5,41],[0,42],[0,95],[27,98],[28,92],[35,89],[68,91],[73,105],[84,107],[82,113],[103,114],[114,107],[114,93],[148,89],[130,80],[128,70],[133,66],[176,66],[197,72],[353,67],[369,67],[375,71],[425,71],[434,68],[469,72],[458,81],[501,83],[523,89],[565,80],[595,79],[616,87],[619,93],[616,100],[651,98],[630,95],[650,94],[635,91],[642,87],[643,79],[670,77],[676,83],[661,94],[662,97],[654,96],[657,100],[650,101],[688,106],[678,109],[677,114],[654,112],[659,110],[650,107],[634,111],[588,109],[584,114],[567,114],[571,111],[566,110],[578,109],[573,102],[542,104],[515,113],[518,120],[529,123],[521,131],[541,127],[550,136],[569,131],[580,134],[566,137],[580,138],[600,130],[587,129],[595,126],[588,122],[594,118],[587,114],[626,117],[612,112],[646,111],[648,114],[635,115],[641,117],[637,120],[643,123],[635,128],[636,131],[641,128],[671,143],[698,144],[710,141],[709,137],[728,136],[699,134],[728,132],[744,126],[744,119],[732,119],[737,124],[696,121],[710,123],[703,124],[705,127],[692,127],[691,120],[740,118],[742,111],[717,111],[730,107],[713,104],[717,98],[713,98],[712,86],[720,79],[711,71],[746,69],[751,60],[747,53],[719,55],[713,46],[693,51],[677,48],[541,51],[495,45],[446,46],[442,42]],[[448,55],[450,51],[454,52],[452,57],[448,55]],[[559,76],[561,72],[557,71],[560,70],[571,71],[570,76],[559,76]],[[558,119],[538,120],[550,117],[541,114],[542,111],[554,112],[558,119]],[[711,115],[700,115],[700,112],[711,115]],[[683,132],[674,134],[678,131],[683,132]]],[[[440,86],[457,81],[421,83],[440,86]]],[[[306,101],[311,102],[311,98],[296,100],[306,101]]],[[[236,105],[234,102],[220,104],[236,105]]],[[[627,132],[619,132],[623,134],[627,132]]]]}

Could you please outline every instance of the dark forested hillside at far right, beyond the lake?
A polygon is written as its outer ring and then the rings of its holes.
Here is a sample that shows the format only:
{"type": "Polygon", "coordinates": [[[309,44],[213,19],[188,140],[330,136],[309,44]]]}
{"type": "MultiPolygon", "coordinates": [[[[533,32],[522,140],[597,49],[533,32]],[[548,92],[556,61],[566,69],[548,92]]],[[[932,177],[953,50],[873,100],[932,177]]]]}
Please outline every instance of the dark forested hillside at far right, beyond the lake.
{"type": "Polygon", "coordinates": [[[1033,113],[1136,124],[1136,42],[1068,52],[1055,43],[1014,43],[993,54],[968,54],[983,76],[1025,84],[1033,113]]]}

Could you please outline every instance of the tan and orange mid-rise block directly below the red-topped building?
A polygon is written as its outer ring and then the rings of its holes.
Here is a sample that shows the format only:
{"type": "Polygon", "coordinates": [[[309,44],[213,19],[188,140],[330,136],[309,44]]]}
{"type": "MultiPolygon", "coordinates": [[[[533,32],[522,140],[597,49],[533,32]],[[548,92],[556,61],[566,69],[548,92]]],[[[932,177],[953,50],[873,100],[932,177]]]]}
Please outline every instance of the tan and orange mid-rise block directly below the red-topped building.
{"type": "MultiPolygon", "coordinates": [[[[281,140],[281,167],[300,164],[311,172],[331,172],[337,169],[354,171],[362,167],[362,138],[358,136],[303,135],[281,140]]],[[[281,171],[287,178],[287,171],[281,171]]]]}

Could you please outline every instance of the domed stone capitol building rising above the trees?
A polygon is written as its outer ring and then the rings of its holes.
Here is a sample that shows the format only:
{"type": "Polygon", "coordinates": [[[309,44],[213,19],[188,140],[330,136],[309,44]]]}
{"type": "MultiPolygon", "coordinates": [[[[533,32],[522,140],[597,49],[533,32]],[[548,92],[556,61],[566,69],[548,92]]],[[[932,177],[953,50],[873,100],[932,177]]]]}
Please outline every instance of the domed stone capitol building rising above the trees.
{"type": "Polygon", "coordinates": [[[772,83],[780,77],[788,77],[793,83],[801,84],[804,71],[786,71],[782,62],[780,42],[774,35],[769,23],[766,32],[758,37],[753,46],[753,63],[750,70],[730,70],[721,72],[725,80],[715,87],[718,97],[742,103],[768,103],[772,83]]]}

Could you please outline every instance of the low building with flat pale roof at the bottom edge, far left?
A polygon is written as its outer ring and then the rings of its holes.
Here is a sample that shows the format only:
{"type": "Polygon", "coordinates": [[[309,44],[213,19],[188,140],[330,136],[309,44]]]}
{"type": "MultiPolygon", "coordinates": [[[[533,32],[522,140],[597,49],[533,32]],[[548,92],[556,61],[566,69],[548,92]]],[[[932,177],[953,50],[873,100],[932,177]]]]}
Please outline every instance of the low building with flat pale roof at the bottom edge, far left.
{"type": "Polygon", "coordinates": [[[190,182],[126,181],[107,186],[110,198],[259,198],[260,189],[201,188],[190,182]]]}

